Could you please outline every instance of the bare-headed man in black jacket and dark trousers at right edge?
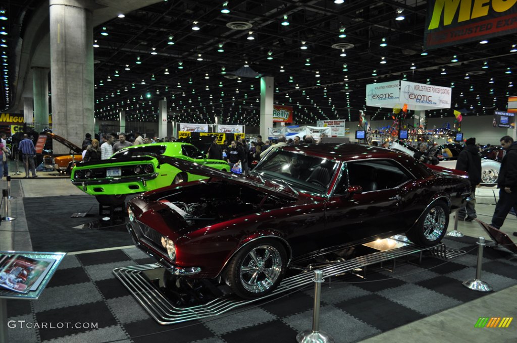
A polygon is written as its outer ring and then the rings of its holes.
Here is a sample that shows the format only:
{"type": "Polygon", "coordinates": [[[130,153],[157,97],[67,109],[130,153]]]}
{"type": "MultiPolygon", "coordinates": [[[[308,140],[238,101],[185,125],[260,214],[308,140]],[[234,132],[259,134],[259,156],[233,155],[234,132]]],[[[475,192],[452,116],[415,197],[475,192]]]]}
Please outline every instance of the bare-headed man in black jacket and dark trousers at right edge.
{"type": "MultiPolygon", "coordinates": [[[[499,169],[499,200],[490,224],[497,229],[503,226],[510,209],[517,206],[517,143],[510,136],[501,137],[500,141],[506,154],[499,169]]],[[[517,236],[517,232],[513,232],[513,235],[517,236]]]]}

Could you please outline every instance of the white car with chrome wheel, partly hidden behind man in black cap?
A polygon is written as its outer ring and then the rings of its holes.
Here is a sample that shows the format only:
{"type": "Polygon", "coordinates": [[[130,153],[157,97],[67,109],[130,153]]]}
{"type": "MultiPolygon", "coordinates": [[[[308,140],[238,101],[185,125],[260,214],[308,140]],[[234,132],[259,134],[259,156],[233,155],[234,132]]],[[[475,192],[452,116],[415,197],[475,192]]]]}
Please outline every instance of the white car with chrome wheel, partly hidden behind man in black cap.
{"type": "MultiPolygon", "coordinates": [[[[459,146],[459,144],[458,144],[459,146]]],[[[452,154],[452,157],[442,158],[440,151],[436,157],[440,163],[440,167],[455,169],[458,155],[460,154],[459,147],[448,146],[447,147],[452,154]]],[[[418,151],[417,148],[404,144],[401,142],[393,142],[391,144],[391,150],[401,151],[410,156],[413,156],[418,151]]],[[[504,150],[501,147],[491,147],[484,149],[479,153],[481,157],[481,183],[495,184],[497,177],[499,176],[499,169],[501,167],[501,160],[503,160],[504,150]]]]}

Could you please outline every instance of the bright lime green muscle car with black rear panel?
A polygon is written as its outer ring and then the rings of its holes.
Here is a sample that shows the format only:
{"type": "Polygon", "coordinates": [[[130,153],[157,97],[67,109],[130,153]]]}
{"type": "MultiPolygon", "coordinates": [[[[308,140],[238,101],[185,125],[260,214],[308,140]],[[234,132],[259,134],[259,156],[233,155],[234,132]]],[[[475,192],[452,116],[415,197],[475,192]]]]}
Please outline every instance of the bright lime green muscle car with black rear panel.
{"type": "Polygon", "coordinates": [[[119,205],[124,202],[127,194],[206,179],[162,163],[162,155],[230,171],[226,161],[207,160],[191,144],[153,143],[122,149],[108,160],[78,163],[73,167],[70,179],[80,190],[95,195],[103,205],[119,205]]]}

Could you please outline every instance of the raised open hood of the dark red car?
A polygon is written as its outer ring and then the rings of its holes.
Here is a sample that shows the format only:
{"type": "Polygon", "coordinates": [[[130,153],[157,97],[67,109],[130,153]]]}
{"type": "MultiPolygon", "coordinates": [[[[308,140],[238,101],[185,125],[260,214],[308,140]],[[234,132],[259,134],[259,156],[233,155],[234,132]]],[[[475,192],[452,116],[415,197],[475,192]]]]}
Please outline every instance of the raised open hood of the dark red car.
{"type": "Polygon", "coordinates": [[[298,192],[292,189],[287,184],[281,182],[273,182],[263,179],[260,176],[248,175],[239,176],[233,173],[227,173],[218,169],[205,167],[199,163],[189,162],[174,157],[157,156],[160,163],[167,163],[181,171],[193,175],[205,176],[208,178],[219,179],[242,186],[246,186],[255,190],[260,190],[265,193],[274,194],[283,198],[298,199],[298,192]]]}

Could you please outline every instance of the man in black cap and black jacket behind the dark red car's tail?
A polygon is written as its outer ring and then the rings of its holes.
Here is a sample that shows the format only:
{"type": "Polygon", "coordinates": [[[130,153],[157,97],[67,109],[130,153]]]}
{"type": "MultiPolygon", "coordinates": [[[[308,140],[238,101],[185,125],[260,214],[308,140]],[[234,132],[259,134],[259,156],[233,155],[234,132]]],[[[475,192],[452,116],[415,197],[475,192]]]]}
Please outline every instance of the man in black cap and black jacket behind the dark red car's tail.
{"type": "Polygon", "coordinates": [[[456,162],[456,169],[463,170],[468,173],[468,180],[470,181],[470,198],[464,207],[458,212],[458,218],[467,222],[472,222],[476,219],[476,186],[481,182],[481,158],[478,155],[478,147],[476,146],[476,138],[468,138],[467,146],[460,152],[458,161],[456,162]]]}

